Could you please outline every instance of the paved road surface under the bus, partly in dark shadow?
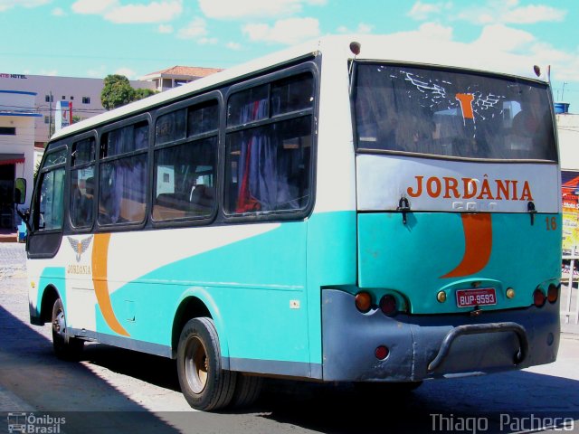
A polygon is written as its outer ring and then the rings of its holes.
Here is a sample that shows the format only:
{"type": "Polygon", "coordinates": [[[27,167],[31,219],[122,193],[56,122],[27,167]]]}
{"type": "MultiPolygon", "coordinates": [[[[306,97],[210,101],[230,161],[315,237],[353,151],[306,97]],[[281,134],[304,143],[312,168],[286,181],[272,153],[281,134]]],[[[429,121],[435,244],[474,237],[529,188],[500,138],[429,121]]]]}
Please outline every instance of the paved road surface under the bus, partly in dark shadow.
{"type": "Polygon", "coordinates": [[[28,324],[24,246],[10,246],[0,246],[0,434],[9,424],[59,433],[579,433],[579,335],[563,335],[556,363],[425,382],[405,396],[277,380],[247,410],[191,410],[170,360],[102,344],[86,345],[80,363],[57,360],[49,326],[28,324]]]}

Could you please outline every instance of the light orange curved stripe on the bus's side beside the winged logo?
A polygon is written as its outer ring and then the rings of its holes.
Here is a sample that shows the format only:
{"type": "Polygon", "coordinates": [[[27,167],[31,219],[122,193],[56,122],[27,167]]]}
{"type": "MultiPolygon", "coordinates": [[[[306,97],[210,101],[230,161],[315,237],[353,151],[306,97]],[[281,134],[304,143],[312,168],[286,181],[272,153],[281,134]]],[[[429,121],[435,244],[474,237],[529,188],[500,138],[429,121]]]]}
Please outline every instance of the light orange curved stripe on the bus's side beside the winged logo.
{"type": "Polygon", "coordinates": [[[109,241],[109,233],[99,233],[94,236],[94,243],[92,244],[92,283],[94,284],[94,292],[97,296],[100,312],[105,318],[106,323],[113,332],[128,336],[127,330],[120,325],[110,303],[107,262],[109,257],[109,241]]]}

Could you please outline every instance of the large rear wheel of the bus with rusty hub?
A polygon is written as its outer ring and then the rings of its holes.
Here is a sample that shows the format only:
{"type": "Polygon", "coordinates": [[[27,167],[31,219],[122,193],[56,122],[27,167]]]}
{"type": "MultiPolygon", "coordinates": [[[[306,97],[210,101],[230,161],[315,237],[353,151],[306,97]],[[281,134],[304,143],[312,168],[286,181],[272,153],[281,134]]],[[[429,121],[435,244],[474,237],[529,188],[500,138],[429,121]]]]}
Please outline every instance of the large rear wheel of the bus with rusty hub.
{"type": "Polygon", "coordinates": [[[177,374],[181,392],[195,410],[219,410],[232,401],[237,373],[222,368],[213,319],[191,319],[183,327],[177,347],[177,374]]]}

